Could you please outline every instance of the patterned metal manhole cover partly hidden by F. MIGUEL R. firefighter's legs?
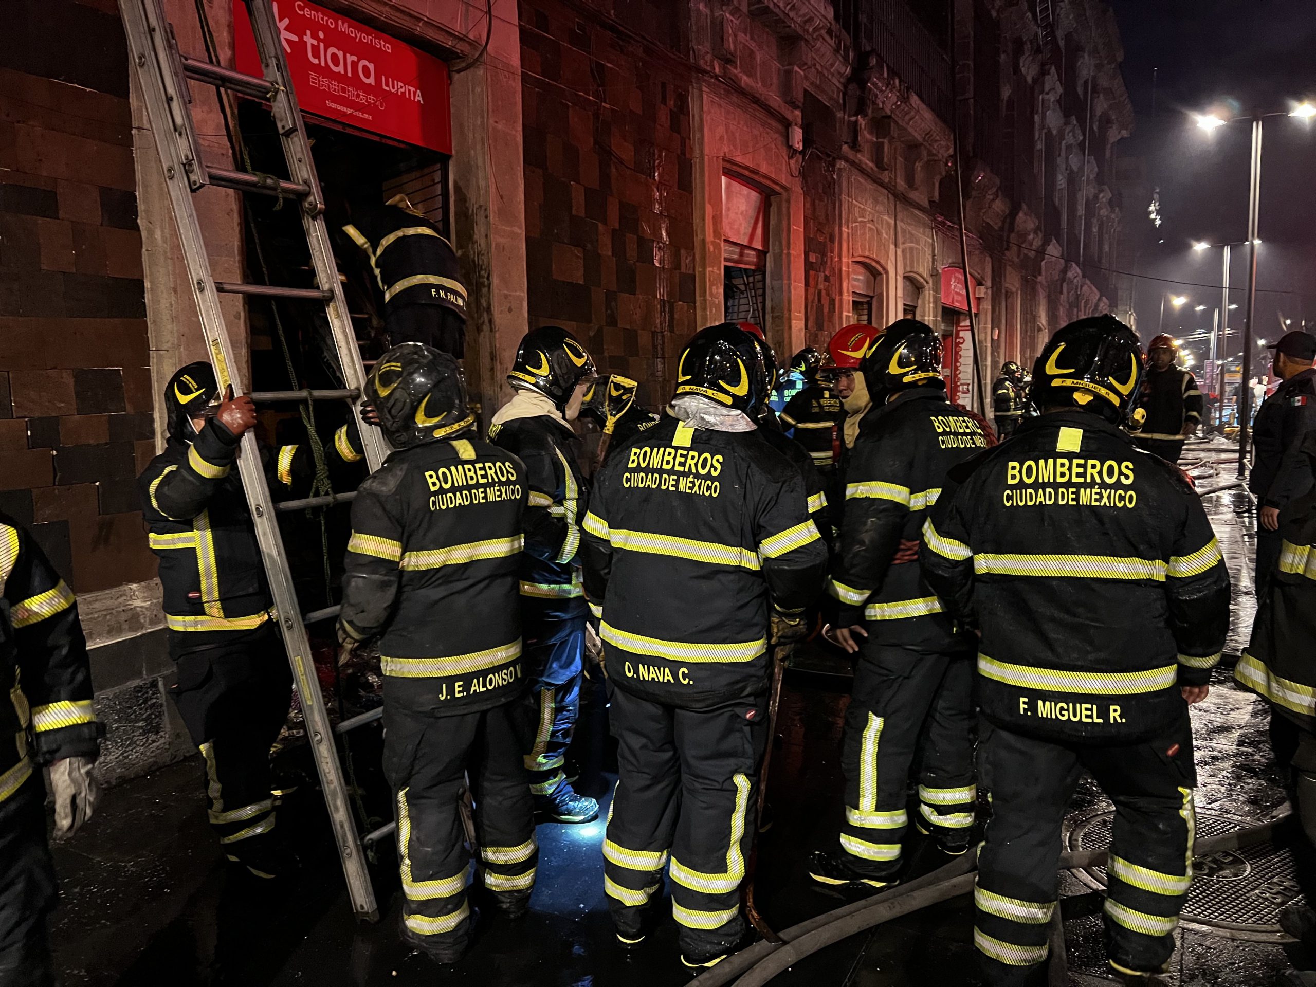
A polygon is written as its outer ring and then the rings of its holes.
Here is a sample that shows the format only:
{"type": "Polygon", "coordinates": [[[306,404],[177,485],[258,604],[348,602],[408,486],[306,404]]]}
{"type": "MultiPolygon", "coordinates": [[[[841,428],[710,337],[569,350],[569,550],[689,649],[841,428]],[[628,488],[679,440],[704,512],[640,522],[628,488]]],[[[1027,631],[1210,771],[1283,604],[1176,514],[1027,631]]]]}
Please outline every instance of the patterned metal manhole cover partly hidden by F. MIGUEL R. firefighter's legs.
{"type": "MultiPolygon", "coordinates": [[[[1111,845],[1115,813],[1098,812],[1066,824],[1070,850],[1104,850],[1111,845]]],[[[1253,820],[1198,813],[1198,840],[1257,825],[1253,820]]],[[[1105,888],[1105,867],[1073,871],[1092,888],[1105,888]]],[[[1183,905],[1183,920],[1220,929],[1238,938],[1274,940],[1279,912],[1302,899],[1294,878],[1292,854],[1263,842],[1238,850],[1199,857],[1192,865],[1192,888],[1183,905]]],[[[1282,933],[1280,933],[1282,934],[1282,933]]]]}

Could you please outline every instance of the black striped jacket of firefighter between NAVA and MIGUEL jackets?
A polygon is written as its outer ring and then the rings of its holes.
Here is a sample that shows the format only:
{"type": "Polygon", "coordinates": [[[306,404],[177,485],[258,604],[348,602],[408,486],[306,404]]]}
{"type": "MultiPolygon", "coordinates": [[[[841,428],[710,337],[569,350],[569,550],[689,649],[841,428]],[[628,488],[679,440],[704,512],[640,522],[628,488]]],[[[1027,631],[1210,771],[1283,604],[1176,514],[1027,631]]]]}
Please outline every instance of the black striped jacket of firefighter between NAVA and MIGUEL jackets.
{"type": "Polygon", "coordinates": [[[924,584],[917,551],[948,470],[986,447],[982,425],[941,390],[904,391],[863,416],[828,582],[828,594],[840,601],[837,626],[867,621],[875,644],[895,647],[969,647],[924,584]]]}

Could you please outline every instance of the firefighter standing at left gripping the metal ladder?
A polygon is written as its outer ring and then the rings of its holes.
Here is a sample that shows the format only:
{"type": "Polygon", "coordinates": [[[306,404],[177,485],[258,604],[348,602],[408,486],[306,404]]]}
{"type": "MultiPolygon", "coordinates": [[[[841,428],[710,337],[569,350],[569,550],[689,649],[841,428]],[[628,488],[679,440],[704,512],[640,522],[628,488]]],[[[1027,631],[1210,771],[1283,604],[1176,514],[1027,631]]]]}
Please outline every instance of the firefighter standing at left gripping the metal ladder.
{"type": "MultiPolygon", "coordinates": [[[[225,855],[271,878],[291,865],[275,846],[270,746],[288,715],[292,678],[233,468],[255,405],[233,397],[232,387],[221,393],[209,363],[190,363],[166,384],[164,408],[168,442],[138,490],[178,669],[170,695],[205,762],[209,820],[225,855]]],[[[325,451],[336,468],[359,461],[355,425],[325,451]]],[[[268,453],[271,490],[293,491],[313,472],[311,457],[305,443],[268,453]]]]}

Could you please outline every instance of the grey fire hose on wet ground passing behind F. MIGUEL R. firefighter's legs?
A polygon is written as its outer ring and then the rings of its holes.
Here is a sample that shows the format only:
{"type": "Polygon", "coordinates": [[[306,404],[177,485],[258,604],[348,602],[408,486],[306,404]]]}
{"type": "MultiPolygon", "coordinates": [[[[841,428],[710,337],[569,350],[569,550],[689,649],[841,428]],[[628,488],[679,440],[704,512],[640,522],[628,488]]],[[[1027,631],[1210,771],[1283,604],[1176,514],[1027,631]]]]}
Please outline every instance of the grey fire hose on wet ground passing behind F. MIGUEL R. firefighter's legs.
{"type": "MultiPolygon", "coordinates": [[[[1194,848],[1194,857],[1205,857],[1223,850],[1237,850],[1242,846],[1265,842],[1273,836],[1275,826],[1291,816],[1292,813],[1286,812],[1255,826],[1199,840],[1194,848]]],[[[1107,854],[1107,850],[1070,850],[1061,854],[1059,866],[1061,870],[1099,867],[1105,863],[1107,854]]],[[[762,987],[794,963],[834,942],[921,908],[969,894],[974,888],[976,870],[976,857],[966,854],[958,861],[876,898],[853,901],[799,925],[792,925],[779,933],[782,940],[779,945],[767,940],[755,942],[696,976],[691,980],[691,987],[722,987],[724,984],[762,987]]],[[[1057,909],[1057,915],[1059,915],[1059,909],[1057,909]]],[[[1051,946],[1057,955],[1053,963],[1063,963],[1062,932],[1058,934],[1053,929],[1051,946]]]]}

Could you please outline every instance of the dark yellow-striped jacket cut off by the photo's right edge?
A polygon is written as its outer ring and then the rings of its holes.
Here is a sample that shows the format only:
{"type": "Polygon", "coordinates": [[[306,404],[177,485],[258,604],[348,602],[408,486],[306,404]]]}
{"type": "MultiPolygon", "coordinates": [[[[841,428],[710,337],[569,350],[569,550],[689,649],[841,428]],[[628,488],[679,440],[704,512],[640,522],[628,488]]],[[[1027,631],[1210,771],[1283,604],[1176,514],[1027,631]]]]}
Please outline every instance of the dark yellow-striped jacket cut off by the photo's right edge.
{"type": "MultiPolygon", "coordinates": [[[[1300,453],[1316,467],[1316,432],[1307,433],[1300,453]]],[[[1316,732],[1316,488],[1284,513],[1279,566],[1258,601],[1234,679],[1316,732]]]]}

